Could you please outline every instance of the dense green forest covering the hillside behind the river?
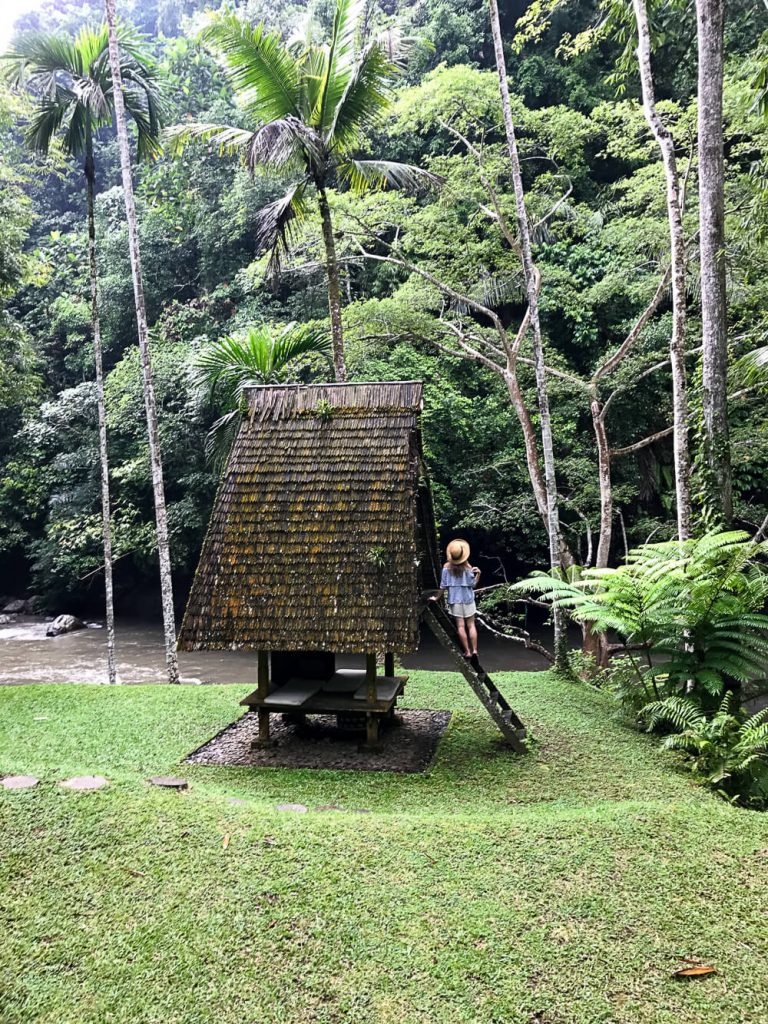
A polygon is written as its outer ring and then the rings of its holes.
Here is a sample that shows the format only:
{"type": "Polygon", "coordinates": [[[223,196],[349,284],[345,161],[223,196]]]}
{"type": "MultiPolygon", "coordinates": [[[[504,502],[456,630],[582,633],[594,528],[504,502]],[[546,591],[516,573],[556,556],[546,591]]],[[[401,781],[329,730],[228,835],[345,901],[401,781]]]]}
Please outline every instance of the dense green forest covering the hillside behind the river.
{"type": "MultiPolygon", "coordinates": [[[[626,545],[676,535],[665,171],[640,105],[630,5],[500,6],[542,275],[563,537],[577,562],[594,562],[601,515],[597,402],[612,453],[613,529],[605,543],[615,563],[626,545]],[[631,350],[603,373],[657,291],[631,350]]],[[[144,36],[165,125],[252,127],[220,51],[201,36],[210,7],[210,0],[123,0],[118,12],[144,36]]],[[[310,32],[328,38],[333,8],[329,0],[237,5],[241,17],[264,22],[286,40],[310,32]]],[[[742,357],[766,344],[768,331],[768,124],[760,105],[768,14],[755,0],[729,0],[725,10],[733,522],[754,532],[768,511],[766,386],[742,357]]],[[[19,19],[16,39],[38,30],[73,36],[102,19],[93,0],[48,0],[19,19]]],[[[658,111],[684,182],[691,493],[694,515],[707,522],[713,511],[701,455],[695,12],[658,3],[650,20],[658,111]]],[[[515,203],[486,5],[377,0],[365,5],[359,31],[388,32],[402,53],[392,102],[359,155],[422,174],[415,173],[412,187],[366,193],[342,174],[330,181],[346,373],[350,380],[425,382],[426,457],[439,522],[519,574],[549,556],[509,380],[489,365],[499,343],[485,310],[514,335],[526,291],[516,242],[504,229],[514,222],[515,203]]],[[[38,100],[7,78],[0,86],[0,591],[40,595],[51,610],[65,603],[95,608],[103,552],[84,167],[55,142],[45,157],[26,145],[38,100]]],[[[143,611],[147,594],[157,592],[155,512],[111,124],[95,134],[94,165],[117,604],[119,611],[143,611]]],[[[292,181],[290,168],[248,167],[206,137],[173,144],[167,136],[155,159],[135,164],[177,596],[197,564],[220,469],[207,457],[206,438],[227,412],[215,390],[212,396],[201,386],[201,352],[264,325],[274,332],[293,323],[331,330],[321,194],[306,193],[304,216],[290,224],[291,244],[279,264],[264,243],[262,211],[292,181]]],[[[517,381],[538,426],[528,345],[524,339],[517,381]]],[[[333,366],[323,353],[310,354],[297,374],[333,379],[333,366]]]]}

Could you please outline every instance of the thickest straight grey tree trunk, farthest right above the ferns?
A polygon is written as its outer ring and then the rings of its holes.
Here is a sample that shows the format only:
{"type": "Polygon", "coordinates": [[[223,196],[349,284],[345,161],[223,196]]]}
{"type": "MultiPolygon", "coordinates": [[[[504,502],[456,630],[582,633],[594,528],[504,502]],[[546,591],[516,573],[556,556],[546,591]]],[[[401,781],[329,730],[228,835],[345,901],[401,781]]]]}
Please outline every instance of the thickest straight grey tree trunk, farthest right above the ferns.
{"type": "Polygon", "coordinates": [[[701,268],[705,458],[709,500],[733,514],[728,437],[728,333],[723,195],[723,0],[696,0],[698,28],[698,224],[701,268]]]}

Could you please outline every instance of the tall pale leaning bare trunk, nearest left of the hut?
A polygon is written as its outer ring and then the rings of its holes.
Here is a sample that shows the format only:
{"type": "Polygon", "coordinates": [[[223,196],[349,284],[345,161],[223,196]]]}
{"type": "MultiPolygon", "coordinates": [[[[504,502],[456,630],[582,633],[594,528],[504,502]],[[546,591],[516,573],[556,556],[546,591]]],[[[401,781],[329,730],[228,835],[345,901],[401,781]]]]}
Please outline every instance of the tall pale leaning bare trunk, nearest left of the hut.
{"type": "Polygon", "coordinates": [[[128,249],[131,256],[133,295],[136,303],[136,325],[138,329],[138,348],[141,357],[144,409],[146,412],[146,429],[150,437],[150,462],[152,466],[152,484],[155,495],[155,520],[157,524],[158,556],[160,561],[160,589],[163,600],[165,659],[168,669],[168,682],[177,683],[179,678],[178,659],[176,657],[176,623],[173,611],[171,555],[168,545],[168,514],[165,505],[165,487],[163,486],[163,462],[160,454],[158,410],[155,401],[155,384],[153,381],[152,360],[150,357],[150,333],[146,327],[146,306],[144,303],[144,286],[141,276],[141,253],[138,244],[136,205],[133,197],[131,151],[128,142],[128,128],[125,118],[125,100],[123,98],[123,79],[120,71],[120,50],[118,48],[118,38],[115,25],[115,0],[104,0],[104,6],[106,8],[106,24],[110,31],[110,65],[112,67],[115,100],[115,124],[118,134],[118,144],[120,147],[120,166],[123,172],[125,215],[128,223],[128,249]]]}

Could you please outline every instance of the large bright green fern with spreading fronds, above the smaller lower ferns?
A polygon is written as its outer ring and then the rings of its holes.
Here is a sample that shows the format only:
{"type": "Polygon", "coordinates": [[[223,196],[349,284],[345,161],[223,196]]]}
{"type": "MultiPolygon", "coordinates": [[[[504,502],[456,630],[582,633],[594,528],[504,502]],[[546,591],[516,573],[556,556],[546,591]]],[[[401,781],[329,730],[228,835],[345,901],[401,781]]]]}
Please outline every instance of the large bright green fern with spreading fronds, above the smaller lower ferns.
{"type": "Polygon", "coordinates": [[[712,715],[726,690],[766,675],[765,552],[737,530],[707,534],[644,545],[617,568],[567,579],[538,573],[512,589],[615,634],[635,659],[639,688],[650,680],[653,698],[685,695],[712,715]]]}

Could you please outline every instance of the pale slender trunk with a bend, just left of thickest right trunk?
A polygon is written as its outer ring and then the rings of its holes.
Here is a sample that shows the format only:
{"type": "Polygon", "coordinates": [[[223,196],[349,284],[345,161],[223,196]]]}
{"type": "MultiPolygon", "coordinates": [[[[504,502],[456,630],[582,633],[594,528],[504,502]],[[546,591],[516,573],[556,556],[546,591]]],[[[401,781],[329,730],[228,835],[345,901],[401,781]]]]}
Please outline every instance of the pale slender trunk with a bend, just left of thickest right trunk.
{"type": "Polygon", "coordinates": [[[672,401],[675,424],[675,489],[677,494],[677,527],[681,541],[690,537],[690,457],[688,455],[688,401],[685,387],[685,240],[680,206],[680,180],[677,173],[675,145],[667,126],[656,111],[653,76],[650,70],[650,34],[645,0],[633,0],[637,22],[637,60],[643,93],[643,114],[662,151],[667,179],[667,217],[670,223],[672,251],[672,401]]]}

